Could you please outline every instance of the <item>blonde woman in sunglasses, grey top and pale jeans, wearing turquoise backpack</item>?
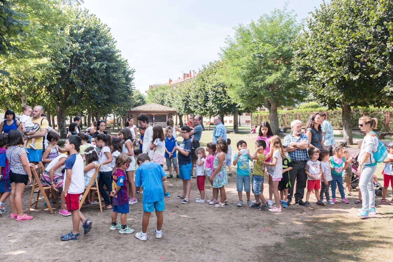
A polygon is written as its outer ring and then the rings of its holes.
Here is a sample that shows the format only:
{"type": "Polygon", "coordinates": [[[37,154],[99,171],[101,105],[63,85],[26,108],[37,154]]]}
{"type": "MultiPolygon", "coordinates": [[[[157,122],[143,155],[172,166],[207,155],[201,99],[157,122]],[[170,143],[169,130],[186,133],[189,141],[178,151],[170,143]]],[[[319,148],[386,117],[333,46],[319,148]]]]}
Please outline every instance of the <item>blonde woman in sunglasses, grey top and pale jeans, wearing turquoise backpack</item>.
{"type": "Polygon", "coordinates": [[[368,218],[369,214],[375,212],[375,191],[373,187],[373,174],[376,169],[376,161],[373,152],[378,150],[378,137],[373,129],[378,125],[378,119],[371,118],[368,115],[359,118],[360,131],[365,132],[362,147],[358,156],[360,174],[359,189],[362,192],[362,209],[358,209],[357,216],[360,218],[368,218]]]}

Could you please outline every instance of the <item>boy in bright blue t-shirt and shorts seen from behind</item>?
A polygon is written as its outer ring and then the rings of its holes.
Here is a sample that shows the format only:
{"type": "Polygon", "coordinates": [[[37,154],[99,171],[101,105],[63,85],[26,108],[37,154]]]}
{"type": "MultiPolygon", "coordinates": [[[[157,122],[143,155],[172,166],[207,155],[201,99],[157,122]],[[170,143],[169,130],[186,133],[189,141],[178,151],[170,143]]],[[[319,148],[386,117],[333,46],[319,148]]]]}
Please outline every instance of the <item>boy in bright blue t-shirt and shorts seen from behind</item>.
{"type": "Polygon", "coordinates": [[[157,228],[154,231],[156,238],[162,238],[162,223],[163,223],[163,211],[164,205],[164,194],[162,183],[167,179],[162,167],[157,164],[150,162],[150,158],[147,154],[138,155],[136,160],[139,167],[136,170],[135,186],[139,190],[140,186],[143,186],[143,218],[142,218],[142,231],[135,234],[135,237],[146,241],[147,240],[147,226],[149,225],[149,218],[151,213],[155,210],[157,216],[157,228]]]}

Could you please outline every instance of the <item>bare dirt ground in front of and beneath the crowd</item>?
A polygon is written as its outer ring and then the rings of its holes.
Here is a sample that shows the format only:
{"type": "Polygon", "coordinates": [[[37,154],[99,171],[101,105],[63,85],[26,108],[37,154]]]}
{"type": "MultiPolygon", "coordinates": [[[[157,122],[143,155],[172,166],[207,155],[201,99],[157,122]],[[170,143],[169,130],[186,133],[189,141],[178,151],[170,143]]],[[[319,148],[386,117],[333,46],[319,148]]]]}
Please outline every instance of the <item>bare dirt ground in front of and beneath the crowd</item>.
{"type": "MultiPolygon", "coordinates": [[[[381,168],[378,165],[376,174],[381,168]]],[[[356,196],[348,198],[348,205],[338,202],[321,207],[310,200],[308,208],[292,204],[281,213],[271,213],[236,206],[235,175],[228,177],[230,204],[223,208],[195,203],[199,192],[196,180],[191,181],[191,202],[185,205],[176,198],[182,192],[182,181],[167,180],[171,197],[165,198],[163,237],[155,238],[152,214],[146,242],[135,238],[135,233],[110,231],[111,211],[101,213],[97,205],[81,209],[93,222],[90,233],[69,242],[62,242],[60,236],[71,231],[71,217],[58,214],[57,207],[51,215],[44,209],[43,198],[37,210],[31,211],[31,221],[11,220],[7,212],[0,216],[0,261],[391,261],[393,256],[393,206],[381,206],[380,197],[376,198],[378,214],[367,220],[356,218],[360,207],[353,203],[356,196]]],[[[205,185],[209,199],[211,185],[208,181],[205,185]]],[[[264,187],[267,197],[266,181],[264,187]]],[[[25,209],[30,189],[24,194],[25,209]]],[[[130,205],[127,216],[135,232],[141,231],[143,213],[142,195],[137,197],[138,203],[130,205]]],[[[391,199],[390,189],[387,199],[391,199]]],[[[4,208],[9,209],[8,200],[4,208]]]]}

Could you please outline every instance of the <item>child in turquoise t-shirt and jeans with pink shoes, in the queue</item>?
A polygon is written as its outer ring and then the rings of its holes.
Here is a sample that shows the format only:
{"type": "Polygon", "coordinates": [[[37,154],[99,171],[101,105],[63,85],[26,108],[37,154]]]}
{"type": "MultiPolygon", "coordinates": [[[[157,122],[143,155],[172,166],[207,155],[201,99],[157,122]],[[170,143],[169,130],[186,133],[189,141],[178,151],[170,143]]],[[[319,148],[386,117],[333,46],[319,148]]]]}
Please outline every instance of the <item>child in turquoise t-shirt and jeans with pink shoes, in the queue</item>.
{"type": "Polygon", "coordinates": [[[343,187],[343,169],[348,167],[348,161],[342,157],[343,148],[341,146],[334,146],[333,156],[330,157],[330,163],[332,164],[332,202],[336,203],[336,187],[340,190],[341,201],[345,204],[349,204],[348,200],[345,198],[344,187],[343,187]]]}

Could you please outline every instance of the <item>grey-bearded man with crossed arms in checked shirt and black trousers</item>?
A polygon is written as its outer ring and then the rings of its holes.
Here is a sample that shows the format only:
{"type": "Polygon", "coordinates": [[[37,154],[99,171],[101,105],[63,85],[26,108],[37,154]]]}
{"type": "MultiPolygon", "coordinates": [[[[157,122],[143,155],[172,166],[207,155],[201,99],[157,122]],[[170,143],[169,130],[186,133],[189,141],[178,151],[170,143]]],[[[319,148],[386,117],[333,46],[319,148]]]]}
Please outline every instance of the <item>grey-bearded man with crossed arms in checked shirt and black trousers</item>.
{"type": "Polygon", "coordinates": [[[304,172],[304,167],[309,160],[307,155],[307,148],[309,147],[309,138],[301,132],[301,122],[294,120],[291,123],[292,132],[284,137],[283,146],[290,157],[293,169],[289,171],[290,185],[288,189],[288,205],[292,201],[294,185],[296,180],[295,202],[299,205],[304,205],[303,196],[304,189],[307,183],[307,175],[304,172]]]}

